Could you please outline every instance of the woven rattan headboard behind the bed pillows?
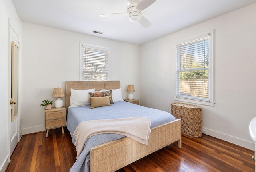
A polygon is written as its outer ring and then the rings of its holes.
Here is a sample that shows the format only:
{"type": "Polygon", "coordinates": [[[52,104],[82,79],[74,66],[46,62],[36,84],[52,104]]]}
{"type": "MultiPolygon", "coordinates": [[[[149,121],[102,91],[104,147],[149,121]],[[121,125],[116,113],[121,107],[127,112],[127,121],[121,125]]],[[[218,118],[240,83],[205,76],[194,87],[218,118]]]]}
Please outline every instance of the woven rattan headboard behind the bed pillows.
{"type": "Polygon", "coordinates": [[[66,81],[66,109],[70,106],[71,88],[74,90],[95,88],[95,91],[118,89],[120,81],[66,81]]]}

